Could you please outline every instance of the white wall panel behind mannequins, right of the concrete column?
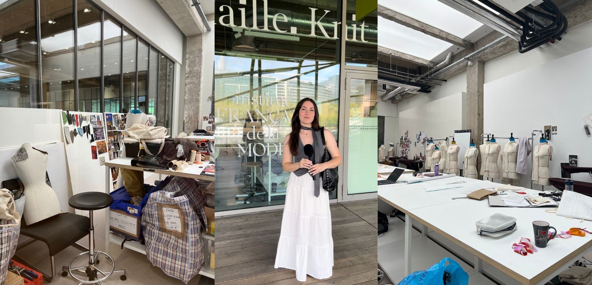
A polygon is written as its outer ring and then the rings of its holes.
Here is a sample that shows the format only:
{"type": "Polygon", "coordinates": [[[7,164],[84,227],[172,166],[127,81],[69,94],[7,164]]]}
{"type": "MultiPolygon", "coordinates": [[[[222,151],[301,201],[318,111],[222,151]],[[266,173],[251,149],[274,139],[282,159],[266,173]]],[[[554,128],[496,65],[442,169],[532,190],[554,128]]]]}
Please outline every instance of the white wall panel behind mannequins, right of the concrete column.
{"type": "MultiPolygon", "coordinates": [[[[582,118],[592,113],[592,71],[585,62],[592,62],[592,48],[485,84],[485,132],[497,136],[513,132],[514,137],[530,137],[532,130],[557,126],[558,135],[552,136],[549,143],[554,146],[549,163],[551,177],[561,177],[559,163],[567,162],[568,155],[578,155],[578,166],[591,166],[592,137],[585,135],[582,118]]],[[[535,138],[535,146],[538,143],[535,138]]],[[[588,174],[572,177],[590,181],[588,174]]],[[[523,177],[520,185],[530,186],[529,177],[523,177]]]]}

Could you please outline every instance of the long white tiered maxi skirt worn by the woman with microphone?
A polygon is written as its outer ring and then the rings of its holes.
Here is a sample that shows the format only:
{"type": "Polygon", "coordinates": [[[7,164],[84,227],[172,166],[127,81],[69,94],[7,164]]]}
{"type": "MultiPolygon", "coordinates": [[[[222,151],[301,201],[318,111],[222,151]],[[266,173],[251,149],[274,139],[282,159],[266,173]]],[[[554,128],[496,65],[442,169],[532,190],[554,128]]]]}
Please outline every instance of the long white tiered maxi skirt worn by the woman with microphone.
{"type": "Polygon", "coordinates": [[[298,177],[292,172],[288,180],[275,256],[275,268],[279,267],[295,270],[298,281],[306,281],[307,274],[317,279],[333,274],[329,192],[321,188],[315,197],[309,174],[298,177]]]}

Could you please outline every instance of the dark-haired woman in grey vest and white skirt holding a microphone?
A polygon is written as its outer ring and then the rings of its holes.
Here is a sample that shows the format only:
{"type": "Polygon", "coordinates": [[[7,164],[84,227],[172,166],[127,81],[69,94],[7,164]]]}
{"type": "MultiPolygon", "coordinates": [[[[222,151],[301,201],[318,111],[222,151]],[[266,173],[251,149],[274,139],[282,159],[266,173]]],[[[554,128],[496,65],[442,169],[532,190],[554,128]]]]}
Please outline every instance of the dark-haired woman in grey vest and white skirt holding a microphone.
{"type": "Polygon", "coordinates": [[[342,159],[333,134],[324,130],[325,144],[332,159],[321,163],[321,130],[317,104],[311,98],[300,100],[292,115],[292,132],[284,140],[282,166],[292,174],[275,256],[275,268],[295,270],[298,281],[306,281],[307,274],[317,279],[333,274],[329,192],[323,189],[320,173],[337,167],[342,159]],[[307,145],[314,149],[310,157],[304,151],[307,145]]]}

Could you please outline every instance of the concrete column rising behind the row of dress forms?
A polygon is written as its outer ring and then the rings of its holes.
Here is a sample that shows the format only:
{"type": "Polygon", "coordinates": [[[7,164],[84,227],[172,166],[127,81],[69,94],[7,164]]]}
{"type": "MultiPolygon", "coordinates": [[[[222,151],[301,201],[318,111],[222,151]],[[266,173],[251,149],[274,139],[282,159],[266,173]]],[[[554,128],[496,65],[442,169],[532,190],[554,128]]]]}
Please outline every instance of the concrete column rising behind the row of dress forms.
{"type": "MultiPolygon", "coordinates": [[[[483,84],[485,82],[485,63],[474,61],[466,67],[466,128],[471,129],[471,139],[475,146],[481,145],[483,133],[483,84]]],[[[478,163],[478,168],[481,162],[478,163]]]]}

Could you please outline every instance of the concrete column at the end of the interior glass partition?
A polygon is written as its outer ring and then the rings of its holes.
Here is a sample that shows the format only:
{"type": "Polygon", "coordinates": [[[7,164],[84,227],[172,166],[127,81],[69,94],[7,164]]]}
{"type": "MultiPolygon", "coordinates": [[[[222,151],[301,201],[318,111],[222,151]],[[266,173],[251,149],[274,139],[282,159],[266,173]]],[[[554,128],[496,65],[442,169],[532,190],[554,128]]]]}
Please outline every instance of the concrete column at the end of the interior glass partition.
{"type": "Polygon", "coordinates": [[[186,132],[201,129],[200,105],[203,39],[204,37],[201,34],[186,37],[185,104],[183,106],[183,129],[186,132]]]}

